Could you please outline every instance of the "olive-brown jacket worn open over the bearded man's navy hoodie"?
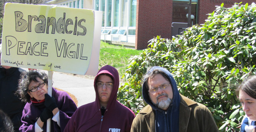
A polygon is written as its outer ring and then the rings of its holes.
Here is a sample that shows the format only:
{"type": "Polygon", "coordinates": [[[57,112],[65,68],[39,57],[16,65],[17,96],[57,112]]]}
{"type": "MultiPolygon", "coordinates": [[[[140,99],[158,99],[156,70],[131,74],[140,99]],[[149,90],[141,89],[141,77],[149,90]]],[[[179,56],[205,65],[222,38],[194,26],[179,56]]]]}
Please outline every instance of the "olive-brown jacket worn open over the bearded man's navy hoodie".
{"type": "MultiPolygon", "coordinates": [[[[209,109],[180,95],[179,132],[219,132],[209,109]]],[[[131,132],[155,132],[155,111],[147,105],[133,120],[131,132]]]]}

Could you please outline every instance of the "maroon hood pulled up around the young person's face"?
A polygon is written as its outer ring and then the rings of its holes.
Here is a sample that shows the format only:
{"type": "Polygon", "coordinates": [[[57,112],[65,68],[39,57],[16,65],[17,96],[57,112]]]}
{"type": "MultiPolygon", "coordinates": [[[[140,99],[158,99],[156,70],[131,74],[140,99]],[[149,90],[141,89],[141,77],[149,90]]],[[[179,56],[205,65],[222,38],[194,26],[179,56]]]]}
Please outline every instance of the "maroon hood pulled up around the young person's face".
{"type": "Polygon", "coordinates": [[[118,91],[118,88],[119,88],[119,74],[118,74],[118,71],[116,70],[115,67],[112,67],[110,65],[105,65],[104,67],[100,68],[99,72],[95,76],[95,79],[94,79],[94,89],[95,89],[95,93],[96,93],[95,101],[97,102],[99,108],[100,108],[100,99],[99,99],[96,83],[97,83],[98,77],[101,74],[109,74],[110,76],[112,76],[112,79],[114,81],[114,86],[113,86],[113,89],[111,91],[109,101],[107,103],[107,109],[108,109],[110,106],[115,105],[115,103],[116,103],[117,91],[118,91]]]}

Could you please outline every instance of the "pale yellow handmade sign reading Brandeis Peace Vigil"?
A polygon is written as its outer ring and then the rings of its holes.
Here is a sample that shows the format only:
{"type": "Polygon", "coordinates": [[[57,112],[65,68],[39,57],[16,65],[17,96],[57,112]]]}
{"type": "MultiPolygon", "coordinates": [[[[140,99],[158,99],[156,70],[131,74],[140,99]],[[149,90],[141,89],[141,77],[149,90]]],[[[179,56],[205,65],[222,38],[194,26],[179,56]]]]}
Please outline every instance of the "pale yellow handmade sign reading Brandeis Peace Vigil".
{"type": "Polygon", "coordinates": [[[90,65],[97,73],[100,37],[95,36],[100,36],[101,28],[101,21],[95,25],[97,18],[102,13],[88,9],[7,3],[1,65],[73,74],[85,74],[90,65]]]}

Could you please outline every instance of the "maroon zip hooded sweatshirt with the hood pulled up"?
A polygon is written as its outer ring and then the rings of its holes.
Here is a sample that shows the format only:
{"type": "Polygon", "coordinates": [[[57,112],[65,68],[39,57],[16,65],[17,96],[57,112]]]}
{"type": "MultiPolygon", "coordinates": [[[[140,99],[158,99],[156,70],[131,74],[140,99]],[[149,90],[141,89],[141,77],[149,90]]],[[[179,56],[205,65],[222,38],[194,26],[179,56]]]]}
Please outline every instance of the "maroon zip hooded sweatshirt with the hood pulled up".
{"type": "Polygon", "coordinates": [[[118,88],[117,70],[109,65],[102,67],[94,80],[95,102],[79,107],[69,120],[64,132],[130,132],[135,114],[116,100],[118,88]],[[99,75],[104,73],[113,77],[114,86],[102,118],[96,81],[99,75]]]}

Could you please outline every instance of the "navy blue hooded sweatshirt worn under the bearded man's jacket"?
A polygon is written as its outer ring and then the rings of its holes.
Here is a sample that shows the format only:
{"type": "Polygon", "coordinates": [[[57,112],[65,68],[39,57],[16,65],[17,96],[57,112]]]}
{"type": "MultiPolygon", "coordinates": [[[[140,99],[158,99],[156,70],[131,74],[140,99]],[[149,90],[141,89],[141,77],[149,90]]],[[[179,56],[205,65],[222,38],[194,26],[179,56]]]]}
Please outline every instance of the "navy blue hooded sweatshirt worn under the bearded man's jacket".
{"type": "MultiPolygon", "coordinates": [[[[178,126],[179,126],[179,107],[180,107],[180,94],[177,88],[177,84],[176,81],[174,80],[171,72],[169,72],[167,69],[164,69],[163,67],[152,67],[147,74],[150,74],[152,71],[154,71],[155,69],[158,69],[162,72],[164,72],[167,76],[168,79],[171,83],[172,86],[172,90],[173,90],[173,99],[172,102],[169,106],[169,108],[167,109],[167,116],[164,114],[165,111],[162,109],[157,108],[152,101],[149,98],[149,92],[148,89],[146,88],[146,82],[144,80],[143,86],[142,86],[142,97],[145,100],[145,102],[147,104],[149,104],[153,110],[156,111],[156,124],[159,123],[164,123],[164,127],[167,127],[166,130],[163,130],[162,132],[166,131],[168,132],[169,129],[171,129],[171,132],[178,132],[178,126]],[[167,119],[167,121],[164,119],[167,119]],[[159,120],[161,119],[161,120],[159,120]],[[166,123],[167,122],[167,123],[166,123]],[[167,126],[166,126],[167,124],[167,126]]],[[[161,125],[161,124],[160,124],[161,125]]],[[[160,128],[159,130],[157,130],[157,125],[156,125],[156,132],[159,132],[162,128],[160,128]]]]}

